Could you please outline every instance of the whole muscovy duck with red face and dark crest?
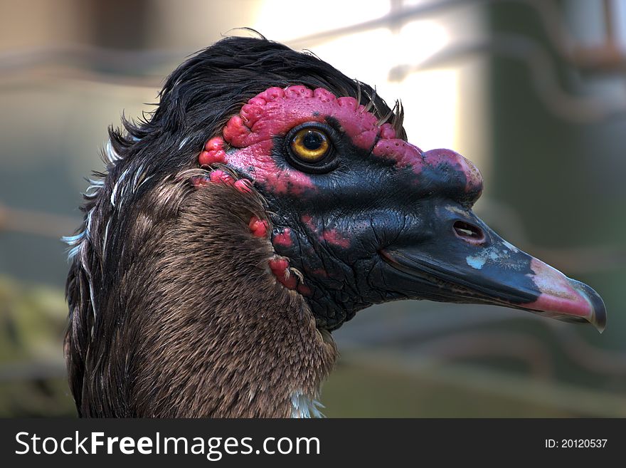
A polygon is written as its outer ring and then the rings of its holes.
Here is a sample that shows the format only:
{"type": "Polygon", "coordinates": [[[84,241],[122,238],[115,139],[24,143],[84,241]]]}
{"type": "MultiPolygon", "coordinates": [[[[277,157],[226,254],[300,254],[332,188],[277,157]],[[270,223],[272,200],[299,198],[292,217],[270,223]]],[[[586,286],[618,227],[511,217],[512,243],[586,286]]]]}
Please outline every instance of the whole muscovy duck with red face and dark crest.
{"type": "Polygon", "coordinates": [[[309,53],[224,38],[110,129],[70,244],[65,338],[85,417],[306,417],[331,331],[376,303],[524,309],[603,329],[589,286],[472,212],[474,165],[309,53]]]}

